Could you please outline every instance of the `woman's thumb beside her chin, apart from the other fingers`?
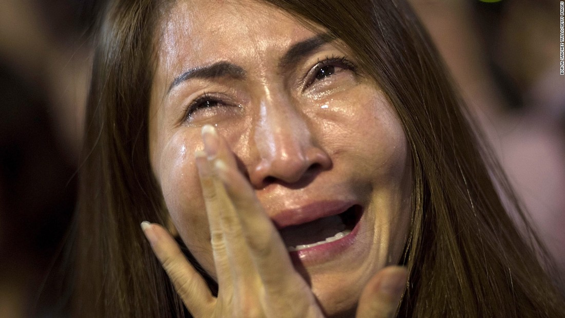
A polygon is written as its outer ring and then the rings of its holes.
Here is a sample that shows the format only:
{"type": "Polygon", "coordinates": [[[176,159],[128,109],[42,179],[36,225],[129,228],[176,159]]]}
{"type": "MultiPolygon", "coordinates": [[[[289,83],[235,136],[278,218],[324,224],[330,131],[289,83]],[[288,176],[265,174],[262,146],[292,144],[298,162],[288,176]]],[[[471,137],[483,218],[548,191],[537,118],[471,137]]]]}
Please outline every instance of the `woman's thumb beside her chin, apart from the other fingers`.
{"type": "Polygon", "coordinates": [[[375,274],[363,289],[357,307],[357,318],[389,318],[396,313],[406,289],[406,268],[389,266],[375,274]]]}

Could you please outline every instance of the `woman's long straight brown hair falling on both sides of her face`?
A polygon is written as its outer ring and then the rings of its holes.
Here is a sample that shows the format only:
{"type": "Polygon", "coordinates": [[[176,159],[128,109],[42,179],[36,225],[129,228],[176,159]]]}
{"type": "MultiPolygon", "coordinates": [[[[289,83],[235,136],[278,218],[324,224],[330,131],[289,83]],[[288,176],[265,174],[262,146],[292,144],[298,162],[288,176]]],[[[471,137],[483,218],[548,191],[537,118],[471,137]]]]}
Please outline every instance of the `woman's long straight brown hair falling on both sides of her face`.
{"type": "MultiPolygon", "coordinates": [[[[147,118],[168,2],[115,1],[97,37],[75,226],[79,316],[184,315],[139,227],[167,220],[149,164],[147,118]]],[[[402,121],[414,208],[399,316],[565,316],[540,265],[544,249],[407,3],[265,2],[340,38],[402,121]]]]}

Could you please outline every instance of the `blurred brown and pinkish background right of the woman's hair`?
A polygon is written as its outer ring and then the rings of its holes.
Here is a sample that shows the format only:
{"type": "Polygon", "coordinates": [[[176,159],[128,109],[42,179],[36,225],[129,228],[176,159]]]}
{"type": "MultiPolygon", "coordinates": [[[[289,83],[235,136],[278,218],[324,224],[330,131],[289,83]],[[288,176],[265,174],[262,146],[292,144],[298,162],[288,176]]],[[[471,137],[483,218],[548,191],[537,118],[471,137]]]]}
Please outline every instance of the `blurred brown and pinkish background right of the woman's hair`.
{"type": "MultiPolygon", "coordinates": [[[[559,1],[410,2],[563,276],[565,76],[559,74],[559,1]]],[[[565,286],[560,288],[565,293],[565,286]]]]}

